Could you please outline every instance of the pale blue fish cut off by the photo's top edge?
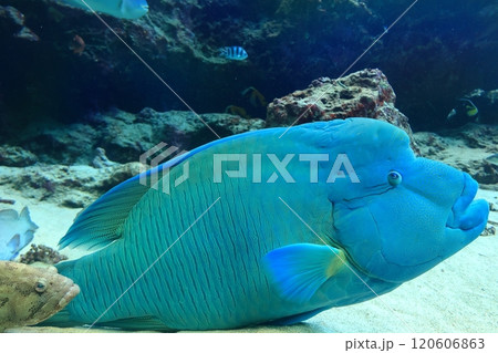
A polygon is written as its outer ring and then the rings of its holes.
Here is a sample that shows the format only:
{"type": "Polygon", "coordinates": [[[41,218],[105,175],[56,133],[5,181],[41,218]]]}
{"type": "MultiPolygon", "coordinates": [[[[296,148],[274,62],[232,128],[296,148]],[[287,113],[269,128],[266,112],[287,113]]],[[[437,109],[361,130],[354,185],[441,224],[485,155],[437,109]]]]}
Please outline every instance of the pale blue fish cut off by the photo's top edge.
{"type": "Polygon", "coordinates": [[[53,0],[74,8],[113,15],[118,19],[135,20],[148,12],[146,0],[53,0]]]}

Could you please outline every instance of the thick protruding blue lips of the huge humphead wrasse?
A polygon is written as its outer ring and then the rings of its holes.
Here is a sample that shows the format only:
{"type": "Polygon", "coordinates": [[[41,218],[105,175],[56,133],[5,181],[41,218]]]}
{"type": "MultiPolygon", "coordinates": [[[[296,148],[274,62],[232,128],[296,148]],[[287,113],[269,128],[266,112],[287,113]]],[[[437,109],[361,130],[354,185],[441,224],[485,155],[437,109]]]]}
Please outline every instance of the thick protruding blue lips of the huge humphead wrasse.
{"type": "Polygon", "coordinates": [[[464,173],[464,188],[461,195],[452,207],[446,221],[446,228],[458,229],[464,232],[484,230],[488,221],[489,205],[483,199],[475,200],[478,184],[467,173],[464,173]]]}

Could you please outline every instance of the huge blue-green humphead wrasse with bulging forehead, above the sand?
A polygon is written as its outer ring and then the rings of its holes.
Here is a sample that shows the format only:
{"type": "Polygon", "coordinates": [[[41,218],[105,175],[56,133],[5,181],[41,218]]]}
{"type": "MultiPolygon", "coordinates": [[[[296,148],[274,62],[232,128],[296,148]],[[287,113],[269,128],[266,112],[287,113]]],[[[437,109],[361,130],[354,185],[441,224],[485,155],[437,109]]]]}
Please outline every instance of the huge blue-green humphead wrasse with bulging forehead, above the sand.
{"type": "Polygon", "coordinates": [[[81,294],[50,324],[290,324],[386,293],[485,228],[477,183],[393,125],[283,132],[207,144],[91,205],[60,243],[105,247],[58,264],[81,294]]]}

